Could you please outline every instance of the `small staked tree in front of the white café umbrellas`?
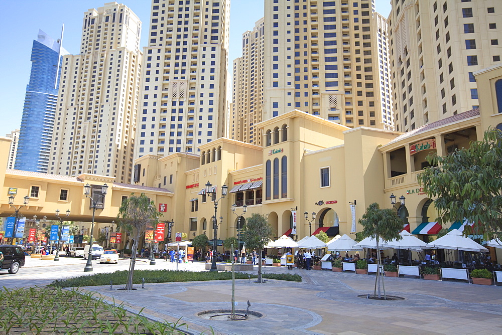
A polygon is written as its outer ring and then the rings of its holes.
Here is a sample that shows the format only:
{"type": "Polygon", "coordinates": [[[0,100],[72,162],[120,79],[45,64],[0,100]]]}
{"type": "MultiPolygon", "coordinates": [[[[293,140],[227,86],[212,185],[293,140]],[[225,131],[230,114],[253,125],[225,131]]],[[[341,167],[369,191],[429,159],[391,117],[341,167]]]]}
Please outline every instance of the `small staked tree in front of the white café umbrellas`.
{"type": "Polygon", "coordinates": [[[366,213],[359,219],[359,224],[362,225],[362,236],[371,237],[376,240],[376,278],[373,295],[376,296],[378,286],[378,297],[382,298],[380,286],[384,290],[384,299],[387,299],[385,294],[384,277],[382,276],[382,257],[380,255],[379,240],[384,241],[401,240],[399,232],[403,229],[403,221],[398,217],[393,209],[381,209],[379,204],[372,203],[366,209],[366,213]]]}

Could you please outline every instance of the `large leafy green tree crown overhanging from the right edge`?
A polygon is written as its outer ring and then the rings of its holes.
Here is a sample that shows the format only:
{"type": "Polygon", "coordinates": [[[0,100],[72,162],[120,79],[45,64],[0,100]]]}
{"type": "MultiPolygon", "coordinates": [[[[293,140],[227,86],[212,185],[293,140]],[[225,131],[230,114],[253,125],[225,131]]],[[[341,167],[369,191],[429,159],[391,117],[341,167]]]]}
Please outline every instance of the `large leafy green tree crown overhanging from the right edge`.
{"type": "Polygon", "coordinates": [[[467,220],[476,223],[473,234],[502,239],[502,131],[490,128],[483,140],[444,157],[430,153],[427,161],[418,182],[435,199],[437,221],[467,220]]]}

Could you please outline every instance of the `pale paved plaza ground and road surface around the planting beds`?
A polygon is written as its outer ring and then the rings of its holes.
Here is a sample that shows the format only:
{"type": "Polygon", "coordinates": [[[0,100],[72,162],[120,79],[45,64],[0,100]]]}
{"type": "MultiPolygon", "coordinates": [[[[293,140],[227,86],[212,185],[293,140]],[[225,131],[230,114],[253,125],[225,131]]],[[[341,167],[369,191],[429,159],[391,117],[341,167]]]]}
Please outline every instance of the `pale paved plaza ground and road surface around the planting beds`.
{"type": "MultiPolygon", "coordinates": [[[[7,287],[45,285],[56,278],[84,273],[82,259],[61,258],[52,261],[28,259],[16,275],[0,275],[7,287]]],[[[138,262],[137,269],[168,268],[176,264],[157,260],[149,265],[138,262]]],[[[93,262],[94,272],[127,269],[118,265],[93,262]]],[[[204,271],[204,263],[179,264],[179,269],[204,271]]],[[[255,267],[254,273],[257,273],[255,267]]],[[[265,273],[283,273],[284,267],[269,267],[265,273]]],[[[334,273],[331,271],[289,270],[300,274],[303,282],[269,280],[258,284],[236,280],[237,309],[264,316],[247,321],[213,321],[196,314],[204,310],[231,308],[231,281],[181,282],[135,285],[134,292],[118,291],[119,286],[86,287],[105,299],[120,303],[131,311],[140,311],[157,320],[188,324],[192,333],[212,327],[216,333],[338,333],[338,334],[502,334],[502,287],[473,285],[454,281],[427,281],[413,278],[386,278],[387,293],[406,298],[400,301],[374,301],[357,297],[372,291],[374,275],[334,273]]]]}

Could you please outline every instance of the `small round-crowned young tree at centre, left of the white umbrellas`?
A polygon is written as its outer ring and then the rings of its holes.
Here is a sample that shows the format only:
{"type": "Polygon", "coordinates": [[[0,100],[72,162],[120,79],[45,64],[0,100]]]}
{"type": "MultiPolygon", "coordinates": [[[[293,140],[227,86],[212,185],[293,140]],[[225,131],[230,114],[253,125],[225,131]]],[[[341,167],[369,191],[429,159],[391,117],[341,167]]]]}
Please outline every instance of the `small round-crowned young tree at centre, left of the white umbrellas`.
{"type": "Polygon", "coordinates": [[[249,250],[256,249],[258,252],[258,282],[262,282],[262,250],[269,243],[272,236],[272,227],[267,217],[257,213],[247,219],[242,229],[242,240],[249,250]]]}

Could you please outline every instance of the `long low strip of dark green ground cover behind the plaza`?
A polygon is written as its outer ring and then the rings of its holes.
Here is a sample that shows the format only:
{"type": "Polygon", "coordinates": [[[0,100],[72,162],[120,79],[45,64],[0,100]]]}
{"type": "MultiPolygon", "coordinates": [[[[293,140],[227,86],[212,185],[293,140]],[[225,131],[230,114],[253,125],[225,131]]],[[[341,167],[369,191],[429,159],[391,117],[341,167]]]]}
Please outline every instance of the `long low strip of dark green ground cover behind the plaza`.
{"type": "MultiPolygon", "coordinates": [[[[115,271],[111,273],[96,273],[89,276],[80,276],[68,279],[54,280],[50,285],[55,287],[83,287],[83,286],[102,286],[125,285],[128,276],[127,270],[115,271]]],[[[251,278],[257,278],[256,275],[250,275],[251,278]]],[[[302,281],[298,274],[290,273],[267,273],[262,274],[263,278],[278,279],[288,281],[302,281]]],[[[206,280],[227,280],[232,279],[232,272],[195,272],[195,271],[175,271],[175,270],[135,270],[133,283],[141,284],[141,278],[145,278],[145,283],[171,283],[183,281],[206,281],[206,280]]],[[[247,279],[248,274],[235,272],[235,279],[247,279]]]]}

